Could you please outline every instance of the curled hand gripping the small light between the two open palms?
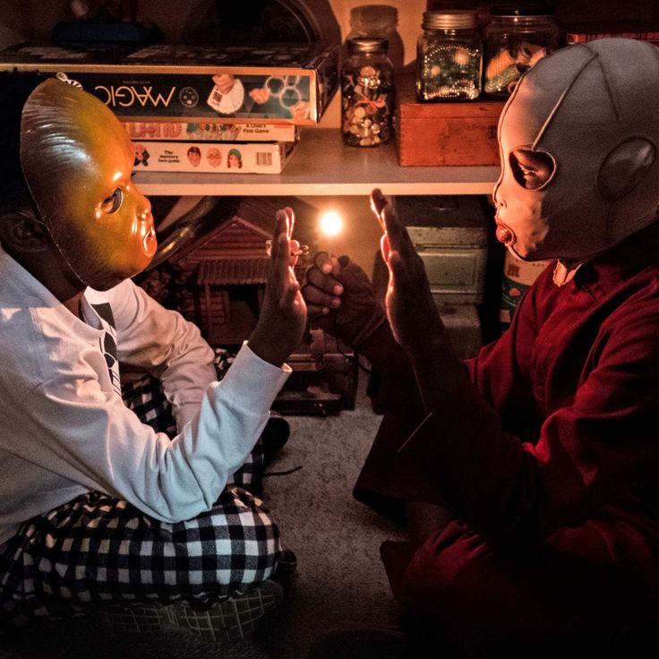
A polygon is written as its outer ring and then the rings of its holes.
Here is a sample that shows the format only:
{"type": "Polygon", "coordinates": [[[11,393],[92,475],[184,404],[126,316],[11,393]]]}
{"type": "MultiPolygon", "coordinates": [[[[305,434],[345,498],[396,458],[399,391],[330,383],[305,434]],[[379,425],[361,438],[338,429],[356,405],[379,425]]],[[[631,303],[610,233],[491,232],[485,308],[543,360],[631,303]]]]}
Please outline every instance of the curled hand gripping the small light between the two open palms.
{"type": "Polygon", "coordinates": [[[355,348],[386,321],[370,279],[347,256],[315,254],[302,294],[313,324],[355,348]]]}

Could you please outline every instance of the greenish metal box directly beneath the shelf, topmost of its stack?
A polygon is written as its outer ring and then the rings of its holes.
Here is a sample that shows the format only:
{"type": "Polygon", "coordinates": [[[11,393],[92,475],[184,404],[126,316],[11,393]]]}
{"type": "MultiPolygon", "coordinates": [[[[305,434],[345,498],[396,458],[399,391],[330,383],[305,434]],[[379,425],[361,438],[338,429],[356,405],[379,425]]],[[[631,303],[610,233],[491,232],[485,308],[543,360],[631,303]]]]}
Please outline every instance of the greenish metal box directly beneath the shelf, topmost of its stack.
{"type": "Polygon", "coordinates": [[[416,251],[424,260],[439,302],[483,302],[487,263],[487,220],[474,196],[394,198],[416,251]]]}

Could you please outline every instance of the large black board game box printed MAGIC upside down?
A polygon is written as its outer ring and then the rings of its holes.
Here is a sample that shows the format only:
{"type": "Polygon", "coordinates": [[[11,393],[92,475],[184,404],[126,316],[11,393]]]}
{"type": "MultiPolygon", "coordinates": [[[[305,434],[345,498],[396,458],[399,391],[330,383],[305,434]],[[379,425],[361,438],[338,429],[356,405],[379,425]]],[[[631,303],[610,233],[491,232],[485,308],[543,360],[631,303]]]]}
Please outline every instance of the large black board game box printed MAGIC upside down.
{"type": "Polygon", "coordinates": [[[338,44],[318,43],[136,50],[19,44],[0,51],[0,70],[60,73],[124,121],[313,125],[338,89],[338,54],[338,44]],[[219,84],[225,75],[232,76],[230,90],[219,84]]]}

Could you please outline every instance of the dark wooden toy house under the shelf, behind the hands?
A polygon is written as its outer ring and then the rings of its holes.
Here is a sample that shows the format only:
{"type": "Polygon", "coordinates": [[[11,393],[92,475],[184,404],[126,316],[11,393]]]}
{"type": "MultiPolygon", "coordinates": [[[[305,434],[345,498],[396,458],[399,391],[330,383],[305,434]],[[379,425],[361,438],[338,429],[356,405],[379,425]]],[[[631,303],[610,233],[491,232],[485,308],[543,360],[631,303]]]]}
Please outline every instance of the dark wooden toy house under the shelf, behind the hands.
{"type": "MultiPolygon", "coordinates": [[[[304,278],[315,253],[317,210],[291,197],[226,198],[203,217],[184,218],[160,242],[156,264],[139,282],[162,304],[193,321],[212,347],[237,349],[250,337],[270,269],[266,241],[275,213],[295,212],[295,238],[309,246],[297,262],[304,278]]],[[[293,369],[273,409],[328,414],[355,407],[357,367],[352,351],[320,329],[306,332],[287,363],[293,369]]]]}

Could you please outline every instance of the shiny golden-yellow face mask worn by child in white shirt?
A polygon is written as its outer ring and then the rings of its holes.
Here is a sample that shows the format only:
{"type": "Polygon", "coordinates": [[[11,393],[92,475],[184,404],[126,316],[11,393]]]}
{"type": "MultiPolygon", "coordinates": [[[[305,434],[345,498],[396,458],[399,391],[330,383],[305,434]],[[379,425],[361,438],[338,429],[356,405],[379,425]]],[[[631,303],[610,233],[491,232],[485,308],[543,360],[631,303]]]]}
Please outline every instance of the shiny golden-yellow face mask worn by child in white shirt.
{"type": "Polygon", "coordinates": [[[98,98],[56,78],[21,118],[25,181],[59,252],[98,290],[141,272],[157,242],[150,202],[131,181],[133,146],[98,98]]]}

